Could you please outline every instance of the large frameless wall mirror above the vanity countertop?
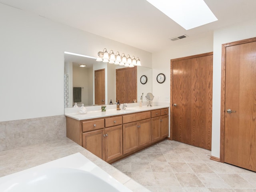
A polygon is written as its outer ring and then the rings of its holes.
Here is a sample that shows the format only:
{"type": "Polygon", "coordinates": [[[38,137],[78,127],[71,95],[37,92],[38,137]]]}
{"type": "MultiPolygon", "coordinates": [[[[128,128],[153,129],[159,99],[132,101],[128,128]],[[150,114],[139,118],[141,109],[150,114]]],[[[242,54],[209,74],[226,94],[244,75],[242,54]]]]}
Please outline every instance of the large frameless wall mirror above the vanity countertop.
{"type": "MultiPolygon", "coordinates": [[[[103,90],[105,98],[101,99],[101,104],[108,104],[110,100],[116,102],[116,69],[123,66],[114,64],[97,62],[94,58],[86,58],[82,56],[64,54],[64,87],[65,87],[65,108],[74,106],[76,102],[78,106],[97,105],[95,103],[95,93],[102,94],[103,90]],[[81,67],[85,65],[85,67],[81,67]],[[98,77],[98,72],[104,71],[104,79],[100,80],[100,87],[95,80],[98,77]],[[103,82],[104,81],[104,82],[103,82]],[[95,84],[96,83],[96,84],[95,84]]],[[[132,81],[132,80],[129,80],[132,81]]],[[[143,66],[137,67],[137,100],[140,99],[142,93],[146,95],[152,92],[152,69],[143,66]],[[147,76],[146,84],[140,83],[140,77],[147,76]]],[[[125,87],[124,87],[125,89],[125,87]]],[[[97,100],[97,97],[96,97],[97,100]]],[[[96,101],[97,102],[97,101],[96,101]]],[[[129,103],[130,101],[126,101],[129,103]]]]}

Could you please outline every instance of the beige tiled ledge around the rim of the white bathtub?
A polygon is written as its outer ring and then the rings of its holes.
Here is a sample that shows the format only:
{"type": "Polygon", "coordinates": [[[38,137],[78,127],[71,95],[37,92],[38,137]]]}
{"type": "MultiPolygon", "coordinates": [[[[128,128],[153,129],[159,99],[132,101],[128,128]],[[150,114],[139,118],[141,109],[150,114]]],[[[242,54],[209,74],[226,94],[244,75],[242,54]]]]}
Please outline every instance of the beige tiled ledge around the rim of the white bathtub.
{"type": "Polygon", "coordinates": [[[72,140],[64,137],[40,144],[0,151],[0,177],[80,152],[134,192],[150,192],[127,175],[72,140]]]}

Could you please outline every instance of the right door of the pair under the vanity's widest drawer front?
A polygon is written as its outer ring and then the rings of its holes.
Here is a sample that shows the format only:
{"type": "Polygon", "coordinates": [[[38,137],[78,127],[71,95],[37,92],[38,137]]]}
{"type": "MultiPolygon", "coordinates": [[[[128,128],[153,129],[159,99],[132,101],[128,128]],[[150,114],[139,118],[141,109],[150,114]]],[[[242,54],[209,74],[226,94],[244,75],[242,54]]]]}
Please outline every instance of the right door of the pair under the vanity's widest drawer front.
{"type": "Polygon", "coordinates": [[[151,143],[151,120],[146,119],[138,123],[139,147],[151,143]]]}

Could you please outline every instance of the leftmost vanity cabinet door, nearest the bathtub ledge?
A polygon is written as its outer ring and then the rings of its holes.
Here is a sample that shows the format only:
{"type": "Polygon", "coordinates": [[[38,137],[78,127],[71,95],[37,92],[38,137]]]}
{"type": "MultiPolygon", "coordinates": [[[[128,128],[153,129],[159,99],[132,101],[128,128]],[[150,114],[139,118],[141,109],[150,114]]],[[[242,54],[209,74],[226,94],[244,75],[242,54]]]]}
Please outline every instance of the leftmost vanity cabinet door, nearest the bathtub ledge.
{"type": "Polygon", "coordinates": [[[83,133],[83,147],[99,158],[105,158],[104,129],[83,133]]]}

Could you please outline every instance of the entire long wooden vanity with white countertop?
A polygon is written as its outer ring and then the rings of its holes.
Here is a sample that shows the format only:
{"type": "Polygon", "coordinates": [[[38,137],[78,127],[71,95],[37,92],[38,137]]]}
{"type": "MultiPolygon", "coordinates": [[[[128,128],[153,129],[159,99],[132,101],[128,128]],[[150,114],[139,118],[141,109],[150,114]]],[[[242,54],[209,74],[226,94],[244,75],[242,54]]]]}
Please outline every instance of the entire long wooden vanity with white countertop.
{"type": "Polygon", "coordinates": [[[65,111],[67,137],[108,163],[168,137],[168,106],[114,107],[101,112],[94,106],[87,114],[65,111]]]}

